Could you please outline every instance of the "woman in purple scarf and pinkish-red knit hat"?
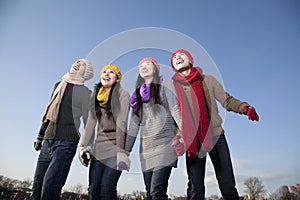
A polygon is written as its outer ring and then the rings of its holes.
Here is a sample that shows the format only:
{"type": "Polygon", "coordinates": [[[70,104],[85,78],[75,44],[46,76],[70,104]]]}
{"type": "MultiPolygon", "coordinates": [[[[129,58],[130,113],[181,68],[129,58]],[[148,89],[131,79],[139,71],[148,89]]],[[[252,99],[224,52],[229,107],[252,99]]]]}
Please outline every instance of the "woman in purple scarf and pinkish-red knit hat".
{"type": "Polygon", "coordinates": [[[146,199],[168,199],[168,180],[178,158],[172,143],[181,129],[175,88],[170,80],[162,80],[153,58],[142,59],[138,71],[136,90],[130,98],[132,114],[125,150],[131,152],[140,131],[146,199]]]}

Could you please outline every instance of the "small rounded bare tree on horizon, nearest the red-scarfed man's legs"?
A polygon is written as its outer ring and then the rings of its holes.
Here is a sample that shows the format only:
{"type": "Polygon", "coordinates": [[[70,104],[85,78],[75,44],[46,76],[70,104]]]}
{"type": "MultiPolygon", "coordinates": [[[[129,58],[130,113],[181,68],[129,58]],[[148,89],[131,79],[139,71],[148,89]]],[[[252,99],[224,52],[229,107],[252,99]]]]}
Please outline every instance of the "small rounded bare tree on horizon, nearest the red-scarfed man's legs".
{"type": "Polygon", "coordinates": [[[257,177],[250,177],[245,182],[246,186],[245,192],[250,195],[251,200],[255,200],[259,198],[259,194],[265,192],[262,181],[257,177]]]}

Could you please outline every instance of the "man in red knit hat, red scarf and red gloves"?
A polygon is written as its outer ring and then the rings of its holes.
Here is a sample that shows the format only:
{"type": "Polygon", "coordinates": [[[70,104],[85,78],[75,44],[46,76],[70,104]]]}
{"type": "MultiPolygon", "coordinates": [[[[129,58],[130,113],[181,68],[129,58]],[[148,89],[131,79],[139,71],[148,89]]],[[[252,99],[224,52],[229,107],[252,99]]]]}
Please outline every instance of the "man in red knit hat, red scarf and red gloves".
{"type": "MultiPolygon", "coordinates": [[[[172,79],[181,111],[181,137],[186,150],[187,199],[205,199],[204,177],[208,153],[223,198],[238,200],[217,101],[228,111],[248,115],[250,120],[258,121],[259,117],[253,107],[230,96],[213,76],[204,75],[202,69],[193,67],[193,64],[193,57],[188,51],[178,49],[172,53],[171,65],[175,71],[172,79]]],[[[181,145],[178,143],[178,146],[181,145]]]]}

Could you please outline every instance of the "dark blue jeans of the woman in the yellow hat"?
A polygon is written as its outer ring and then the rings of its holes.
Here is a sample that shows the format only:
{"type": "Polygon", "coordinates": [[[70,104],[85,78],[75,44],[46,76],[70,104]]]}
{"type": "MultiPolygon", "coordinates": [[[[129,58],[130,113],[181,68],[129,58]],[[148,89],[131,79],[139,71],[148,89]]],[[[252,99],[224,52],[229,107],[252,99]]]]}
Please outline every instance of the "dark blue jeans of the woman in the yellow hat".
{"type": "Polygon", "coordinates": [[[92,160],[89,169],[89,200],[117,200],[117,183],[122,171],[116,165],[116,157],[103,161],[92,160]]]}

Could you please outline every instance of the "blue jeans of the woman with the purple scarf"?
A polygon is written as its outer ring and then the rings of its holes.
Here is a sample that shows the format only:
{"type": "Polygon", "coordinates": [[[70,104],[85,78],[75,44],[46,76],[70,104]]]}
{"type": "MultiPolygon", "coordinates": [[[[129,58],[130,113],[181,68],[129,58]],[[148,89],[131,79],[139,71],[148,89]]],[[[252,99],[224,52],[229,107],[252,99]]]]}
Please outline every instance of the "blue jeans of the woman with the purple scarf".
{"type": "Polygon", "coordinates": [[[168,181],[172,167],[166,166],[153,171],[143,172],[147,191],[146,200],[167,200],[168,181]]]}

